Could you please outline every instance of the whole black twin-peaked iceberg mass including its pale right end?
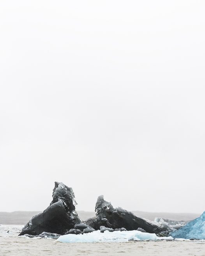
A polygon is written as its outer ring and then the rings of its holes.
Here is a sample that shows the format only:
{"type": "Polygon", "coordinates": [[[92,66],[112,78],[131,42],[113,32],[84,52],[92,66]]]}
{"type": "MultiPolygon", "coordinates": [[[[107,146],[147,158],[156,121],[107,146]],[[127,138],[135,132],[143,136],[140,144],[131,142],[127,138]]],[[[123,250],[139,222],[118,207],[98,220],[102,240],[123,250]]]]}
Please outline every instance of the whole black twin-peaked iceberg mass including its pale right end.
{"type": "Polygon", "coordinates": [[[114,208],[102,195],[97,198],[96,216],[82,223],[75,206],[72,188],[62,182],[55,182],[50,206],[32,217],[19,235],[58,238],[63,234],[86,234],[95,230],[100,230],[101,233],[138,230],[165,236],[184,224],[162,218],[156,218],[155,222],[138,218],[121,207],[114,208]]]}

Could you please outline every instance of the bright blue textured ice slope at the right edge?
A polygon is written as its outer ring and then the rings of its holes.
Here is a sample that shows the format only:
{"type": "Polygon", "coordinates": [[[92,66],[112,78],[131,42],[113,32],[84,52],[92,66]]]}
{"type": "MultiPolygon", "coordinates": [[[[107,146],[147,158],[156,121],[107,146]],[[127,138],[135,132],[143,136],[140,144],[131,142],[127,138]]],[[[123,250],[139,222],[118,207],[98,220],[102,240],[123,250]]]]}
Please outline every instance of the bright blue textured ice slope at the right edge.
{"type": "Polygon", "coordinates": [[[205,212],[199,218],[187,223],[184,227],[171,232],[173,238],[205,239],[205,212]]]}

